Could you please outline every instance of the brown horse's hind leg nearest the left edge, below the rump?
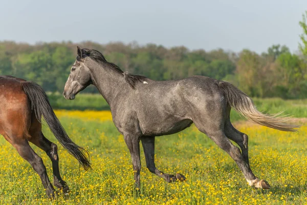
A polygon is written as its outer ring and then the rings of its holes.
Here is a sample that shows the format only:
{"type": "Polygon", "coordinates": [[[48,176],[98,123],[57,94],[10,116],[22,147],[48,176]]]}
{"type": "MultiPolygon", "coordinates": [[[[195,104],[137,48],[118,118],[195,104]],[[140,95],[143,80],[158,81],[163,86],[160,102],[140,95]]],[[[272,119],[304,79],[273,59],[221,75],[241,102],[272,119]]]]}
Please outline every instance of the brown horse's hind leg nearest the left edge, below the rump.
{"type": "Polygon", "coordinates": [[[42,159],[30,147],[29,142],[25,139],[18,140],[18,142],[14,142],[12,145],[16,148],[19,155],[26,159],[39,175],[42,185],[46,189],[47,196],[50,198],[54,197],[55,190],[48,178],[46,167],[43,165],[42,159]]]}

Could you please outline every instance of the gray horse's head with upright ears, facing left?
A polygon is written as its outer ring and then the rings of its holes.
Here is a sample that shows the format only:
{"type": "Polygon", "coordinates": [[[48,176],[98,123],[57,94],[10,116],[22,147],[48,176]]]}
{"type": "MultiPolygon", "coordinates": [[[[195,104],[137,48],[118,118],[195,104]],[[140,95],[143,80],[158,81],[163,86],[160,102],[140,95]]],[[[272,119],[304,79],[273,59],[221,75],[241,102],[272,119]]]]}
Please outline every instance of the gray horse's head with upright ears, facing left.
{"type": "Polygon", "coordinates": [[[86,66],[87,50],[77,47],[78,56],[64,87],[65,99],[75,99],[76,94],[92,84],[91,72],[86,66]]]}

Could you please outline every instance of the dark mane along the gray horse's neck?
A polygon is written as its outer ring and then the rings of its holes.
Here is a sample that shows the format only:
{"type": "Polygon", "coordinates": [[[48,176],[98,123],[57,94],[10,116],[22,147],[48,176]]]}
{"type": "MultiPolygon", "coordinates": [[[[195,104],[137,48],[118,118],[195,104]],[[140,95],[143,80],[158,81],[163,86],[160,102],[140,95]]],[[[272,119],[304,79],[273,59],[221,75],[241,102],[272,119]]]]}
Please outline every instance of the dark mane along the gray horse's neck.
{"type": "MultiPolygon", "coordinates": [[[[104,65],[108,66],[109,68],[113,69],[114,71],[123,74],[126,83],[128,83],[128,85],[132,89],[135,89],[135,87],[138,83],[143,83],[144,80],[148,79],[147,77],[145,77],[143,75],[132,75],[132,74],[129,74],[128,72],[123,72],[117,65],[108,62],[105,59],[105,57],[102,55],[102,53],[100,53],[99,51],[83,48],[82,49],[82,58],[84,58],[86,56],[89,56],[93,60],[95,60],[99,63],[103,63],[104,65]]],[[[77,60],[79,60],[79,59],[80,59],[80,57],[78,56],[77,60]]]]}

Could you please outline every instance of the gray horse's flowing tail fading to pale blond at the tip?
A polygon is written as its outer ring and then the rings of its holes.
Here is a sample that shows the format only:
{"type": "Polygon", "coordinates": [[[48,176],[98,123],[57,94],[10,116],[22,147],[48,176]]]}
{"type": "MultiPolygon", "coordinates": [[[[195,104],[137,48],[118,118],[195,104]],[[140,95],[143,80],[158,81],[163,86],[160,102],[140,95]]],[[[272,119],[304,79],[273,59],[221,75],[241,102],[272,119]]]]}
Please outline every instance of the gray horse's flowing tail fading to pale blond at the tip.
{"type": "Polygon", "coordinates": [[[244,92],[225,81],[218,81],[217,86],[225,94],[228,104],[238,113],[256,124],[281,131],[296,132],[300,126],[289,124],[290,117],[279,117],[277,114],[264,114],[257,110],[253,100],[244,92]]]}

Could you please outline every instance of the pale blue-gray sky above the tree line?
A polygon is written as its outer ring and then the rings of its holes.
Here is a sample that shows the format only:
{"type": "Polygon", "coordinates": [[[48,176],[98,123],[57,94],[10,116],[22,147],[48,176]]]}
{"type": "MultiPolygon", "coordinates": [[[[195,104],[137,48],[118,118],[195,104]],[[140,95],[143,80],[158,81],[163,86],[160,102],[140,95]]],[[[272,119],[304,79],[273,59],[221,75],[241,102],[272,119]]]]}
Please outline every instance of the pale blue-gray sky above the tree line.
{"type": "Polygon", "coordinates": [[[298,50],[307,0],[2,1],[0,41],[92,40],[258,53],[298,50]]]}

